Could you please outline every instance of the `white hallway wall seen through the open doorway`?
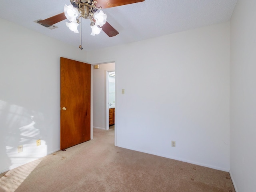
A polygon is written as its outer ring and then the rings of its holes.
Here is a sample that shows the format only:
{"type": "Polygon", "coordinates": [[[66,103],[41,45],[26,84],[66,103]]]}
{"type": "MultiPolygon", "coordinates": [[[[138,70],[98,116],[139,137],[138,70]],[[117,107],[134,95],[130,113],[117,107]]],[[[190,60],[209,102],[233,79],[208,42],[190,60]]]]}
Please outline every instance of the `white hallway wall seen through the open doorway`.
{"type": "Polygon", "coordinates": [[[93,70],[93,127],[106,128],[106,71],[115,70],[115,63],[100,64],[93,70]]]}

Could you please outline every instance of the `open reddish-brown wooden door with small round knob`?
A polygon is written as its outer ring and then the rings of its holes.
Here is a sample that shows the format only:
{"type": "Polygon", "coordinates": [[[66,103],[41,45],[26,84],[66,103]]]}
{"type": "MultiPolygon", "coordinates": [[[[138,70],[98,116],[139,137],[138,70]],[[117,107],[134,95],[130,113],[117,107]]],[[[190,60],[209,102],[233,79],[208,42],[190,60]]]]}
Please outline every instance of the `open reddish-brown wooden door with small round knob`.
{"type": "Polygon", "coordinates": [[[91,65],[60,58],[60,149],[90,140],[91,65]]]}

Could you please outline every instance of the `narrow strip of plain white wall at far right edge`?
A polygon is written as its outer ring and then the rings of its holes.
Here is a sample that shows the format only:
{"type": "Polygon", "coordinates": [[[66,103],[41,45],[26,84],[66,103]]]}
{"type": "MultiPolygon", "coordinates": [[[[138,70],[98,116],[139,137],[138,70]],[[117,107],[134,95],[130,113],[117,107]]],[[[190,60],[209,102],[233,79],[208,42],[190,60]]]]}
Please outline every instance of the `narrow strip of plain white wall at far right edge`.
{"type": "Polygon", "coordinates": [[[230,174],[256,192],[256,1],[238,0],[230,24],[230,174]]]}

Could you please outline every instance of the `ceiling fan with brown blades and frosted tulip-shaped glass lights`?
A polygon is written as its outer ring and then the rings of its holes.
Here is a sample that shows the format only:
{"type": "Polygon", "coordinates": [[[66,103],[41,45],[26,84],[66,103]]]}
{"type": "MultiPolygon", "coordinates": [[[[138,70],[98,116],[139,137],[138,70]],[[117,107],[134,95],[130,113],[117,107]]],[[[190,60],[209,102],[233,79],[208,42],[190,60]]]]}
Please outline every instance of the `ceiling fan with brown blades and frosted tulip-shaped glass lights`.
{"type": "MultiPolygon", "coordinates": [[[[106,14],[104,14],[101,9],[143,1],[144,0],[70,0],[71,5],[65,5],[63,13],[44,20],[38,20],[37,23],[45,27],[50,27],[53,26],[53,24],[68,19],[70,21],[70,23],[66,22],[68,28],[74,32],[78,32],[77,26],[80,23],[79,19],[85,18],[91,20],[91,35],[98,34],[103,30],[109,37],[113,37],[119,33],[114,27],[106,22],[106,14]],[[97,12],[98,10],[100,10],[100,12],[97,12]]],[[[82,46],[80,45],[79,48],[82,49],[82,46]]]]}

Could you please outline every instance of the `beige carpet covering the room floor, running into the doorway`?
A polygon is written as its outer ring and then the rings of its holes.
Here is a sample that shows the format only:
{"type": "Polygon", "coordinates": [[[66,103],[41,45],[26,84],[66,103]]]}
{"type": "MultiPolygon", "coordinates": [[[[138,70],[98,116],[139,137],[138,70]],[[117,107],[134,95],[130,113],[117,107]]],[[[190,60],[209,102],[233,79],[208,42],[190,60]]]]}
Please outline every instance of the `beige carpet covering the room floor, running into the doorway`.
{"type": "Polygon", "coordinates": [[[235,192],[228,172],[114,146],[114,129],[0,174],[0,192],[235,192]]]}

